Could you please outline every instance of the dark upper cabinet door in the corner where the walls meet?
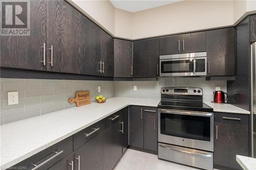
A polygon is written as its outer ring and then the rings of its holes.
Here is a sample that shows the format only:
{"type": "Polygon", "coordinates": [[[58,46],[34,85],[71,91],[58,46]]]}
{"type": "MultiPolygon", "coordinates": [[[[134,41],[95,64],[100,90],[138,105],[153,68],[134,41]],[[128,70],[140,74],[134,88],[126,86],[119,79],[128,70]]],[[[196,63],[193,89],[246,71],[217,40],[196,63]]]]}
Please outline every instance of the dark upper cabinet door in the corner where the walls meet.
{"type": "Polygon", "coordinates": [[[133,42],[114,39],[115,77],[133,77],[133,42]]]}

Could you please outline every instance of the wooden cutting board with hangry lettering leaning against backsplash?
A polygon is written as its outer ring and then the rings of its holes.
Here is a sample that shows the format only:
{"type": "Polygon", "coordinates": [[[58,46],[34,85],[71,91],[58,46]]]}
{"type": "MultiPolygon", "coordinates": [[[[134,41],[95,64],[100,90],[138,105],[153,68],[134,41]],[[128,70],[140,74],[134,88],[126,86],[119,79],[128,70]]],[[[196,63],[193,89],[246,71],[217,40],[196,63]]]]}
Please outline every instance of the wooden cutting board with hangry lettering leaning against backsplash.
{"type": "Polygon", "coordinates": [[[69,103],[76,102],[76,106],[88,105],[91,103],[90,91],[77,91],[75,98],[70,98],[69,103]]]}

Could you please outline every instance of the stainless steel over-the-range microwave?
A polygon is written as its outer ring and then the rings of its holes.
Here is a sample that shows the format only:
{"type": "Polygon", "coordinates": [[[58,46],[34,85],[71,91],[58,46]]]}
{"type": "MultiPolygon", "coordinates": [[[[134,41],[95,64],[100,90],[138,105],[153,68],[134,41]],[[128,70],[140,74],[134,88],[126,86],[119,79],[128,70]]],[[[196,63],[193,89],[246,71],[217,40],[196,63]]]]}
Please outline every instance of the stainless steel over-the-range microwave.
{"type": "Polygon", "coordinates": [[[160,56],[160,77],[206,76],[207,53],[186,53],[160,56]]]}

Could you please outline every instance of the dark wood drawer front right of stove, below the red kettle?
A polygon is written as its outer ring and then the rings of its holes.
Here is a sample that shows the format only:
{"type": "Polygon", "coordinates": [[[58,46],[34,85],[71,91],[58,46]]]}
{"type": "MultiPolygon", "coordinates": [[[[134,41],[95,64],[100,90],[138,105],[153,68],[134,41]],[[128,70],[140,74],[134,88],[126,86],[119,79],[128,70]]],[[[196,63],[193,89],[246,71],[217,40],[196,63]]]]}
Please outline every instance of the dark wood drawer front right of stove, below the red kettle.
{"type": "Polygon", "coordinates": [[[249,114],[214,112],[214,122],[249,124],[249,114]]]}

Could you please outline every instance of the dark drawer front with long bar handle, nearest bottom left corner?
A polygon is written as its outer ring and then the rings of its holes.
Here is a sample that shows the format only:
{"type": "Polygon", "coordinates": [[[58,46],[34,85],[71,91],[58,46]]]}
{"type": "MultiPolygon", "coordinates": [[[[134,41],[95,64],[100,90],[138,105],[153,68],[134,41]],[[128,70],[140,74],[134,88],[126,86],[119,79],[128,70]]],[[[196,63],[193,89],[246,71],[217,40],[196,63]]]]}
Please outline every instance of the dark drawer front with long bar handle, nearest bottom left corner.
{"type": "Polygon", "coordinates": [[[48,169],[73,151],[73,136],[70,136],[51,147],[10,167],[10,169],[48,169]]]}

